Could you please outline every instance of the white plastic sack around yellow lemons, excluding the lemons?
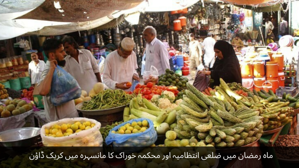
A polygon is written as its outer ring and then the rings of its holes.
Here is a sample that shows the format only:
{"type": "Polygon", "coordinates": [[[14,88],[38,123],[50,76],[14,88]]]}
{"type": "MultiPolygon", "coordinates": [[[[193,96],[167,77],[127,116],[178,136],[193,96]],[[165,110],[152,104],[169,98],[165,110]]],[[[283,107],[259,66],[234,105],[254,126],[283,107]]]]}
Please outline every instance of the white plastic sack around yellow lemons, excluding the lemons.
{"type": "Polygon", "coordinates": [[[83,117],[64,118],[43,125],[40,130],[40,135],[44,146],[103,146],[103,138],[99,130],[100,128],[101,123],[93,119],[83,117]],[[73,124],[77,121],[81,123],[90,121],[91,123],[94,123],[95,126],[91,129],[83,130],[65,137],[51,137],[46,136],[45,134],[45,129],[50,129],[55,124],[73,124]]]}

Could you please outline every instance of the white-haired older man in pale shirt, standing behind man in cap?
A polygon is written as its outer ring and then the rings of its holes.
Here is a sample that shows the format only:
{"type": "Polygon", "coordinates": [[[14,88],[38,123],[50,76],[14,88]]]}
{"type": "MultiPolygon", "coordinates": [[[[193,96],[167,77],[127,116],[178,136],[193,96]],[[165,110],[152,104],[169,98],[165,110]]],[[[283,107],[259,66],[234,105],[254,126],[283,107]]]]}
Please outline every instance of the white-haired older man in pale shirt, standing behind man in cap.
{"type": "Polygon", "coordinates": [[[145,52],[145,71],[150,71],[152,65],[158,69],[159,75],[170,69],[168,51],[164,44],[156,38],[157,32],[152,26],[143,30],[143,38],[147,42],[145,52]]]}

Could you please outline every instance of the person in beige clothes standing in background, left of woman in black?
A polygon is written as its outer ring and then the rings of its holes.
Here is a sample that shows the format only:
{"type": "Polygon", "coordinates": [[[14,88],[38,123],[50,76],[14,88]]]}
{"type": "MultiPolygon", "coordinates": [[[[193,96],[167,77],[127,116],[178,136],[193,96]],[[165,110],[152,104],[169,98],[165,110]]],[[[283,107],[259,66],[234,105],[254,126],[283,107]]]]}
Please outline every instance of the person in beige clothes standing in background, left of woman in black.
{"type": "Polygon", "coordinates": [[[196,68],[202,63],[202,48],[199,41],[195,40],[193,33],[189,34],[189,59],[190,59],[190,75],[194,80],[196,68]]]}

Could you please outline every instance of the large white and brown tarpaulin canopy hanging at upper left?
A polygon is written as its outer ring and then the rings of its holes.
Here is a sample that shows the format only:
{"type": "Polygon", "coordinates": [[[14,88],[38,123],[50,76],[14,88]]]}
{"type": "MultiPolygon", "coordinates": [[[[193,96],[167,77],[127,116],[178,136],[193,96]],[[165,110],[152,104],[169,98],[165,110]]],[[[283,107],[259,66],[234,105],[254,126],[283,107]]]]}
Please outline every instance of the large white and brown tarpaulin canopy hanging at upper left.
{"type": "Polygon", "coordinates": [[[58,0],[35,1],[45,2],[39,6],[32,6],[32,9],[14,10],[19,11],[18,13],[0,13],[0,18],[4,15],[9,18],[0,19],[0,40],[26,33],[52,36],[93,29],[123,14],[179,10],[190,7],[199,0],[90,0],[89,3],[64,0],[58,5],[58,0]]]}

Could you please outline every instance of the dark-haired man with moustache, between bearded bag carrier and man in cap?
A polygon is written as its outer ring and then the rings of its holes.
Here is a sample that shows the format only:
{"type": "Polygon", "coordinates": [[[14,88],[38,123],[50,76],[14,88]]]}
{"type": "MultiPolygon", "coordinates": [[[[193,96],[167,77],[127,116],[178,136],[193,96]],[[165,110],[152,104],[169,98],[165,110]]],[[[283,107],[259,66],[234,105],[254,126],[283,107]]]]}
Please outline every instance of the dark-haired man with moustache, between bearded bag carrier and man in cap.
{"type": "Polygon", "coordinates": [[[77,80],[82,90],[89,93],[94,84],[102,82],[97,60],[89,50],[79,50],[79,45],[71,36],[63,38],[62,44],[68,54],[65,57],[65,71],[77,80]]]}

